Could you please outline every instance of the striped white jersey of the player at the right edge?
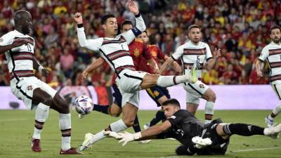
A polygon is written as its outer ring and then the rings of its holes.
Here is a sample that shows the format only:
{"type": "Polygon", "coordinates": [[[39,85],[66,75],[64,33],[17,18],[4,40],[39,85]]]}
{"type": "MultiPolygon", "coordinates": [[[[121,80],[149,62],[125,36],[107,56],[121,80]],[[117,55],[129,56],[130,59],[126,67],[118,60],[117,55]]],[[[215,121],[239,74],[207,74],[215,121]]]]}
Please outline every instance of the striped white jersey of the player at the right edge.
{"type": "Polygon", "coordinates": [[[273,41],[261,51],[259,60],[268,60],[270,66],[270,84],[281,84],[281,44],[273,41]]]}

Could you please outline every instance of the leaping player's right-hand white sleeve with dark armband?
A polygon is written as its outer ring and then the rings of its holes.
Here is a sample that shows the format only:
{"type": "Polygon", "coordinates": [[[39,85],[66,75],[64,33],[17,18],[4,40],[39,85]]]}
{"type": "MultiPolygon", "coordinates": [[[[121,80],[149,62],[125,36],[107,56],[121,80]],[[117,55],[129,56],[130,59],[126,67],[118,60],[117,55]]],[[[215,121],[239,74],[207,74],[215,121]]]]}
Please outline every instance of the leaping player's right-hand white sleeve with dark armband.
{"type": "Polygon", "coordinates": [[[138,14],[136,15],[136,27],[133,27],[129,31],[120,34],[120,36],[126,39],[127,44],[131,44],[131,41],[133,41],[133,39],[135,39],[138,35],[144,32],[145,29],[145,22],[141,17],[141,14],[138,14]]]}

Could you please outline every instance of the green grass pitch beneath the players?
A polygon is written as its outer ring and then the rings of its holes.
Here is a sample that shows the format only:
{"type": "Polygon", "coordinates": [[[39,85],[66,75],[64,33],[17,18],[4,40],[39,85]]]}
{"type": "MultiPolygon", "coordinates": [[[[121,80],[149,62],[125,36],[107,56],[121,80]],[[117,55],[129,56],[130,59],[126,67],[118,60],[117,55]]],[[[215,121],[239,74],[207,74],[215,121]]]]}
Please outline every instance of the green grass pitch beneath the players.
{"type": "MultiPolygon", "coordinates": [[[[224,122],[249,123],[266,126],[264,117],[270,110],[215,111],[214,118],[221,117],[224,122]]],[[[155,111],[138,112],[141,126],[154,117],[155,111]]],[[[202,119],[203,112],[197,112],[202,119]]],[[[99,112],[92,112],[84,119],[78,119],[72,111],[72,146],[78,147],[84,140],[84,134],[96,133],[119,118],[110,117],[99,112]]],[[[277,122],[281,117],[277,116],[277,122]]],[[[153,140],[149,144],[129,143],[122,147],[117,140],[105,138],[84,151],[83,155],[60,155],[60,130],[58,113],[51,110],[41,134],[42,152],[34,153],[30,149],[30,136],[34,128],[34,111],[0,110],[0,157],[169,157],[176,158],[174,150],[179,143],[176,140],[153,140]]],[[[131,131],[132,129],[128,129],[131,131]]],[[[228,152],[221,156],[194,157],[281,157],[281,139],[273,140],[266,136],[241,137],[232,136],[228,152]]]]}

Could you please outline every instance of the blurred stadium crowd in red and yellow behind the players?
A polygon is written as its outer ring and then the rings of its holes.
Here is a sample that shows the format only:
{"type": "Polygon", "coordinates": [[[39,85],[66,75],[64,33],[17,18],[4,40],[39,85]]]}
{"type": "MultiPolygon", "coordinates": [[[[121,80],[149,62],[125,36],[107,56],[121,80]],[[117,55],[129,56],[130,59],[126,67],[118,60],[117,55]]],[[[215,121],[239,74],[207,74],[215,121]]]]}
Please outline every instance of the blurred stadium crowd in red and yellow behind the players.
{"type": "MultiPolygon", "coordinates": [[[[83,79],[81,72],[98,58],[78,44],[72,13],[84,15],[89,39],[103,37],[100,18],[114,13],[119,24],[134,16],[122,0],[4,0],[0,4],[0,36],[13,30],[13,13],[25,9],[32,13],[35,55],[51,74],[41,77],[53,87],[71,85],[110,86],[112,72],[105,64],[83,79]],[[15,10],[15,9],[18,10],[15,10]]],[[[268,84],[268,75],[257,77],[254,62],[263,46],[269,43],[272,25],[281,25],[281,1],[268,0],[138,0],[145,19],[150,44],[156,44],[166,55],[188,40],[187,27],[202,26],[202,41],[221,48],[214,70],[204,70],[206,84],[268,84]]],[[[265,65],[264,71],[268,71],[265,65]]],[[[5,56],[0,56],[0,86],[9,85],[5,56]]],[[[167,74],[174,74],[169,70],[167,74]]],[[[267,73],[268,74],[268,73],[267,73]]],[[[38,74],[39,75],[39,74],[38,74]]]]}

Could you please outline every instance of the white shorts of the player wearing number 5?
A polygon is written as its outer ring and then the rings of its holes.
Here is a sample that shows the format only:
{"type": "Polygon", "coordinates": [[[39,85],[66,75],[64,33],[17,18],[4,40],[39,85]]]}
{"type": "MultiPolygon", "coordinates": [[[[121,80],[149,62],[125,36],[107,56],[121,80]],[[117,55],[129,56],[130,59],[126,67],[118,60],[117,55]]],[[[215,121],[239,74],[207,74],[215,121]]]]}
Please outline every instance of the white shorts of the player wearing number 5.
{"type": "Polygon", "coordinates": [[[193,103],[199,105],[200,98],[209,89],[209,86],[202,81],[196,81],[195,84],[185,83],[183,88],[186,91],[186,103],[193,103]]]}

